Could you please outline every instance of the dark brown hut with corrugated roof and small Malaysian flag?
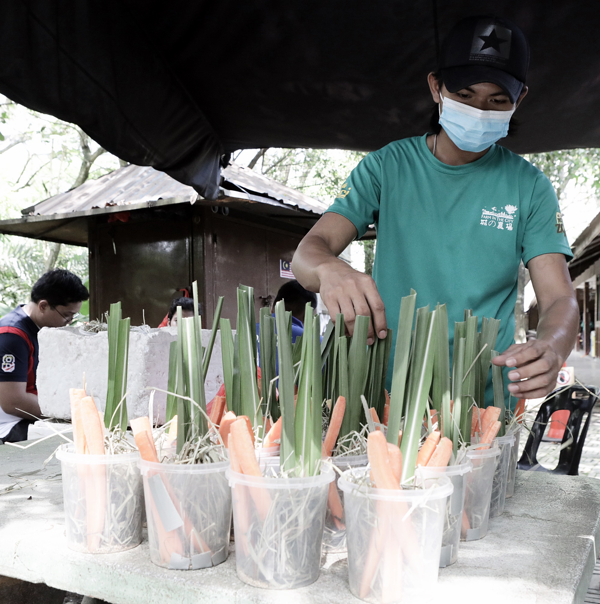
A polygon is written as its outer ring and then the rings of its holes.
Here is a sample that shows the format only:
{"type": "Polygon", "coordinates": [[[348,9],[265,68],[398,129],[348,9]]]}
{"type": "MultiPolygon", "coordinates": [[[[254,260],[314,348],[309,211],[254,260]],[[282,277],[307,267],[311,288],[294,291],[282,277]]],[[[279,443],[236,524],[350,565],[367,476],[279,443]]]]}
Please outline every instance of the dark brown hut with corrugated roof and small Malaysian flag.
{"type": "Polygon", "coordinates": [[[289,262],[327,204],[237,164],[216,201],[151,167],[127,165],[0,221],[0,233],[89,249],[90,316],[120,300],[132,324],[156,327],[170,300],[197,280],[209,323],[219,295],[235,318],[240,283],[257,313],[292,278],[289,262]]]}

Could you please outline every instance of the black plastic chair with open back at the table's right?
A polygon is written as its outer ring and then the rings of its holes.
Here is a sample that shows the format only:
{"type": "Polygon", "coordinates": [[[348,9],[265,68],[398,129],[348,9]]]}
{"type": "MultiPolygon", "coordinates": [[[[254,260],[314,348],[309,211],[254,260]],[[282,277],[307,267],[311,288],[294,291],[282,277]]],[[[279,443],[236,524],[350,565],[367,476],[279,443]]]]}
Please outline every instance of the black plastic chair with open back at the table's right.
{"type": "Polygon", "coordinates": [[[536,472],[552,472],[552,474],[567,474],[569,476],[579,475],[579,460],[581,460],[581,451],[583,443],[586,440],[587,428],[592,419],[592,409],[596,402],[596,396],[600,391],[595,386],[586,386],[583,388],[578,385],[573,385],[567,390],[564,390],[552,398],[548,398],[541,403],[540,410],[535,418],[535,423],[531,428],[523,455],[517,467],[520,470],[534,470],[536,472]],[[587,390],[592,392],[590,394],[587,390]],[[570,411],[567,426],[564,430],[563,443],[573,439],[572,442],[560,452],[558,465],[553,470],[540,465],[537,460],[537,451],[540,447],[541,437],[544,435],[547,423],[550,421],[552,414],[555,411],[567,410],[570,411]],[[581,421],[584,414],[587,413],[586,422],[581,428],[581,421]],[[579,429],[581,428],[581,432],[579,429]]]}

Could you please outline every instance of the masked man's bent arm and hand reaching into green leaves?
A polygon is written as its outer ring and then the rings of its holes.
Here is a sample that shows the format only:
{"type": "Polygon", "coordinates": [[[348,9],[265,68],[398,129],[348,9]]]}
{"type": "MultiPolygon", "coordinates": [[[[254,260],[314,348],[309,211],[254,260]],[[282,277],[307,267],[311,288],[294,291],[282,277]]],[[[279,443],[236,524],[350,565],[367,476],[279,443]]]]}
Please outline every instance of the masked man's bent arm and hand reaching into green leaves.
{"type": "Polygon", "coordinates": [[[385,306],[375,281],[337,257],[356,236],[356,228],[347,218],[324,214],[296,249],[292,271],[304,288],[321,294],[332,320],[343,313],[350,335],[356,315],[371,317],[367,342],[372,344],[375,334],[379,338],[388,335],[385,306]]]}

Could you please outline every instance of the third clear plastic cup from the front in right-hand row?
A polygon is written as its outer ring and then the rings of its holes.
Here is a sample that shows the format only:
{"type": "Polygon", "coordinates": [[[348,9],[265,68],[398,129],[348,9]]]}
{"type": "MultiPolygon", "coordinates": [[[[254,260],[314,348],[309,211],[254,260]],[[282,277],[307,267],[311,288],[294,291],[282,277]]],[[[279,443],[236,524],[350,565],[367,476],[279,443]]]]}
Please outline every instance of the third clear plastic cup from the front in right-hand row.
{"type": "Polygon", "coordinates": [[[488,533],[492,486],[500,448],[494,445],[488,449],[477,449],[479,446],[471,445],[467,449],[467,458],[473,469],[467,475],[461,541],[475,541],[488,533]]]}

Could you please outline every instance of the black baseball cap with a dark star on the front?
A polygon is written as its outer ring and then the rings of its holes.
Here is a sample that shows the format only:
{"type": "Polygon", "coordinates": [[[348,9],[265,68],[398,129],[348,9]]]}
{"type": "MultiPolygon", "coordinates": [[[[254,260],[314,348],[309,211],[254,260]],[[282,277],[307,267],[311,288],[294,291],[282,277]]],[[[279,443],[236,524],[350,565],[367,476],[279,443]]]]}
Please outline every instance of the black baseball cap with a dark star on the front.
{"type": "Polygon", "coordinates": [[[492,82],[517,101],[529,66],[529,44],[508,19],[474,16],[459,21],[442,44],[439,71],[449,92],[492,82]]]}

